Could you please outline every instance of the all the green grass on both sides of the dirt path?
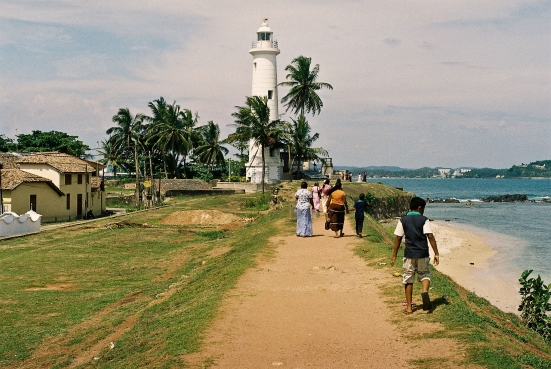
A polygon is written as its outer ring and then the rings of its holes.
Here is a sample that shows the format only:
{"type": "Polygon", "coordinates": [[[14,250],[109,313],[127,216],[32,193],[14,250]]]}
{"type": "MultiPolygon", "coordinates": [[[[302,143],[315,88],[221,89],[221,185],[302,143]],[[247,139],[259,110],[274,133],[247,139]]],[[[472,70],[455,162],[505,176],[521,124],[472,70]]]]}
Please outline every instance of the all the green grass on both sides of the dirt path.
{"type": "MultiPolygon", "coordinates": [[[[292,198],[295,191],[290,186],[280,194],[292,198]]],[[[394,190],[380,188],[377,195],[387,191],[394,190]]],[[[115,349],[94,352],[98,359],[79,367],[185,367],[182,355],[199,350],[225,294],[259,254],[273,252],[266,246],[269,238],[293,233],[288,206],[265,211],[263,203],[260,194],[181,197],[170,207],[4,241],[0,367],[66,368],[113,334],[115,349]],[[231,211],[254,221],[230,229],[160,223],[191,209],[231,211]]],[[[389,265],[392,231],[368,217],[367,236],[356,249],[367,264],[389,273],[400,271],[389,265]]],[[[549,344],[518,317],[435,270],[432,287],[436,309],[425,319],[443,329],[427,337],[459,340],[467,350],[464,364],[551,367],[549,344]]],[[[418,295],[418,284],[415,288],[418,295]]],[[[398,278],[381,290],[391,301],[403,299],[398,278]]],[[[407,322],[397,318],[396,324],[407,330],[407,322]]],[[[414,364],[446,366],[432,359],[414,364]]]]}

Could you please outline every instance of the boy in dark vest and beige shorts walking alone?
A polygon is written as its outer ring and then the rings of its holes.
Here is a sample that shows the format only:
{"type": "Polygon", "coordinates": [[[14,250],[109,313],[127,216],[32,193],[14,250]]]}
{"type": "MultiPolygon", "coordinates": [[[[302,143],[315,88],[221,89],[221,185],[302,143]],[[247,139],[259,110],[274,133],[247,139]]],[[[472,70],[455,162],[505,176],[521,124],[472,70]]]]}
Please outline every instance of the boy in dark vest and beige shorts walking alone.
{"type": "Polygon", "coordinates": [[[432,227],[427,217],[423,216],[425,212],[426,201],[420,197],[414,197],[410,200],[410,211],[406,216],[400,218],[394,235],[394,251],[390,265],[394,266],[398,249],[402,243],[402,238],[406,238],[406,246],[404,248],[404,272],[402,274],[402,284],[406,294],[406,309],[404,314],[413,312],[411,301],[413,294],[414,276],[417,274],[417,279],[421,282],[421,298],[423,299],[423,310],[432,310],[429,288],[430,288],[430,257],[429,243],[434,251],[434,265],[440,262],[440,254],[436,246],[436,239],[432,233],[432,227]]]}

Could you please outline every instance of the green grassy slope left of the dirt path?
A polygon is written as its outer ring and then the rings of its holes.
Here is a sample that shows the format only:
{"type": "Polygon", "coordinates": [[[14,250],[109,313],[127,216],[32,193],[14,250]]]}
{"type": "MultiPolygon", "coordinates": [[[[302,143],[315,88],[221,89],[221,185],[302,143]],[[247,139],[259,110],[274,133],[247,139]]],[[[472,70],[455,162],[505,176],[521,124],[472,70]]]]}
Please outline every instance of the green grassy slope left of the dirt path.
{"type": "Polygon", "coordinates": [[[183,198],[2,243],[0,367],[68,367],[118,330],[116,349],[94,367],[184,367],[181,355],[200,347],[224,294],[269,251],[281,214],[225,231],[159,222],[185,209],[248,211],[251,197],[183,198]]]}

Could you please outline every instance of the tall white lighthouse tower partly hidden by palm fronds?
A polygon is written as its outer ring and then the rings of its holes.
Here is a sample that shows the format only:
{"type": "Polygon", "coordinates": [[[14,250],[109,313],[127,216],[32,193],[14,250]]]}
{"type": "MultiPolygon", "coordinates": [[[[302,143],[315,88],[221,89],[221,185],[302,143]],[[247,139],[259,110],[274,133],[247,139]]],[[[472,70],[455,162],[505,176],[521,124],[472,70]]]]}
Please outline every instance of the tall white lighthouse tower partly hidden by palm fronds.
{"type": "MultiPolygon", "coordinates": [[[[257,31],[256,41],[253,41],[249,53],[253,56],[253,88],[252,96],[266,96],[270,108],[270,120],[278,119],[277,98],[277,63],[279,54],[277,41],[268,19],[264,19],[257,31]]],[[[247,179],[251,183],[262,183],[262,153],[254,141],[249,142],[249,162],[247,163],[247,179]]],[[[265,182],[276,182],[283,178],[283,164],[278,150],[265,149],[266,163],[265,182]]]]}

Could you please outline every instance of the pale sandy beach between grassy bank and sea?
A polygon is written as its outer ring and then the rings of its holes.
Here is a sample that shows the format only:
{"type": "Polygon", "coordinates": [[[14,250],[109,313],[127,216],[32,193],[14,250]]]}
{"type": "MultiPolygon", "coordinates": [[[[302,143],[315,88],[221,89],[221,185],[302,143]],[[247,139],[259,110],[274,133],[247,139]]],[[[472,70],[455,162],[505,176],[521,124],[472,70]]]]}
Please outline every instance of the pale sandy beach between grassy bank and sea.
{"type": "Polygon", "coordinates": [[[492,265],[496,252],[490,245],[490,236],[441,221],[433,221],[431,225],[440,252],[440,265],[436,269],[499,309],[518,314],[518,278],[504,275],[495,263],[492,265]]]}

